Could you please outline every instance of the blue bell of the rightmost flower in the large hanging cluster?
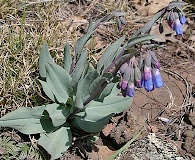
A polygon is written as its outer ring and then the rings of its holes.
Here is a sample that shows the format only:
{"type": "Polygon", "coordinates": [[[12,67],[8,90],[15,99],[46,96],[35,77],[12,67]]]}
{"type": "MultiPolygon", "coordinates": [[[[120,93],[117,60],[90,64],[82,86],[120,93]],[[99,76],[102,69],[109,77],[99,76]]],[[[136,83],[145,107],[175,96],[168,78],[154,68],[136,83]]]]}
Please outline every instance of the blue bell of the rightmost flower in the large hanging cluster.
{"type": "Polygon", "coordinates": [[[152,76],[153,76],[153,83],[156,88],[160,88],[163,86],[162,77],[160,74],[159,69],[153,68],[152,70],[152,76]]]}

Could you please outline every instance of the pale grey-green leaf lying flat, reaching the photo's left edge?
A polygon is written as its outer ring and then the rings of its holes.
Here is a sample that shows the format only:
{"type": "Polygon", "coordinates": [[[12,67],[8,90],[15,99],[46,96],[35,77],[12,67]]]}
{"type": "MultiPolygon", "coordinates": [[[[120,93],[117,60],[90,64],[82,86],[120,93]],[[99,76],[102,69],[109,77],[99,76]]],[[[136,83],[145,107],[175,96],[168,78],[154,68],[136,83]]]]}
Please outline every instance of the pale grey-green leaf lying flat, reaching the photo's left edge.
{"type": "Polygon", "coordinates": [[[40,119],[45,106],[34,108],[19,108],[0,118],[0,126],[10,127],[24,134],[45,132],[40,119]]]}

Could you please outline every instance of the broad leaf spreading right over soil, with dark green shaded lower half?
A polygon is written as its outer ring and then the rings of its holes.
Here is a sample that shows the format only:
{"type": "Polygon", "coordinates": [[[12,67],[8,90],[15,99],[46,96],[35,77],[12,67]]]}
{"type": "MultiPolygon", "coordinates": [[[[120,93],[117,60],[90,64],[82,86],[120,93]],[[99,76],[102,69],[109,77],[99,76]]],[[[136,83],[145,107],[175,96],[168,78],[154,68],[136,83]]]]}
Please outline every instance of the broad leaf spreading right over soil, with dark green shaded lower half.
{"type": "Polygon", "coordinates": [[[85,111],[74,116],[78,126],[86,132],[97,132],[103,129],[108,117],[114,113],[121,113],[131,106],[132,98],[117,96],[118,89],[113,88],[111,94],[104,98],[103,103],[91,101],[85,111]],[[90,126],[90,127],[86,127],[90,126]]]}

